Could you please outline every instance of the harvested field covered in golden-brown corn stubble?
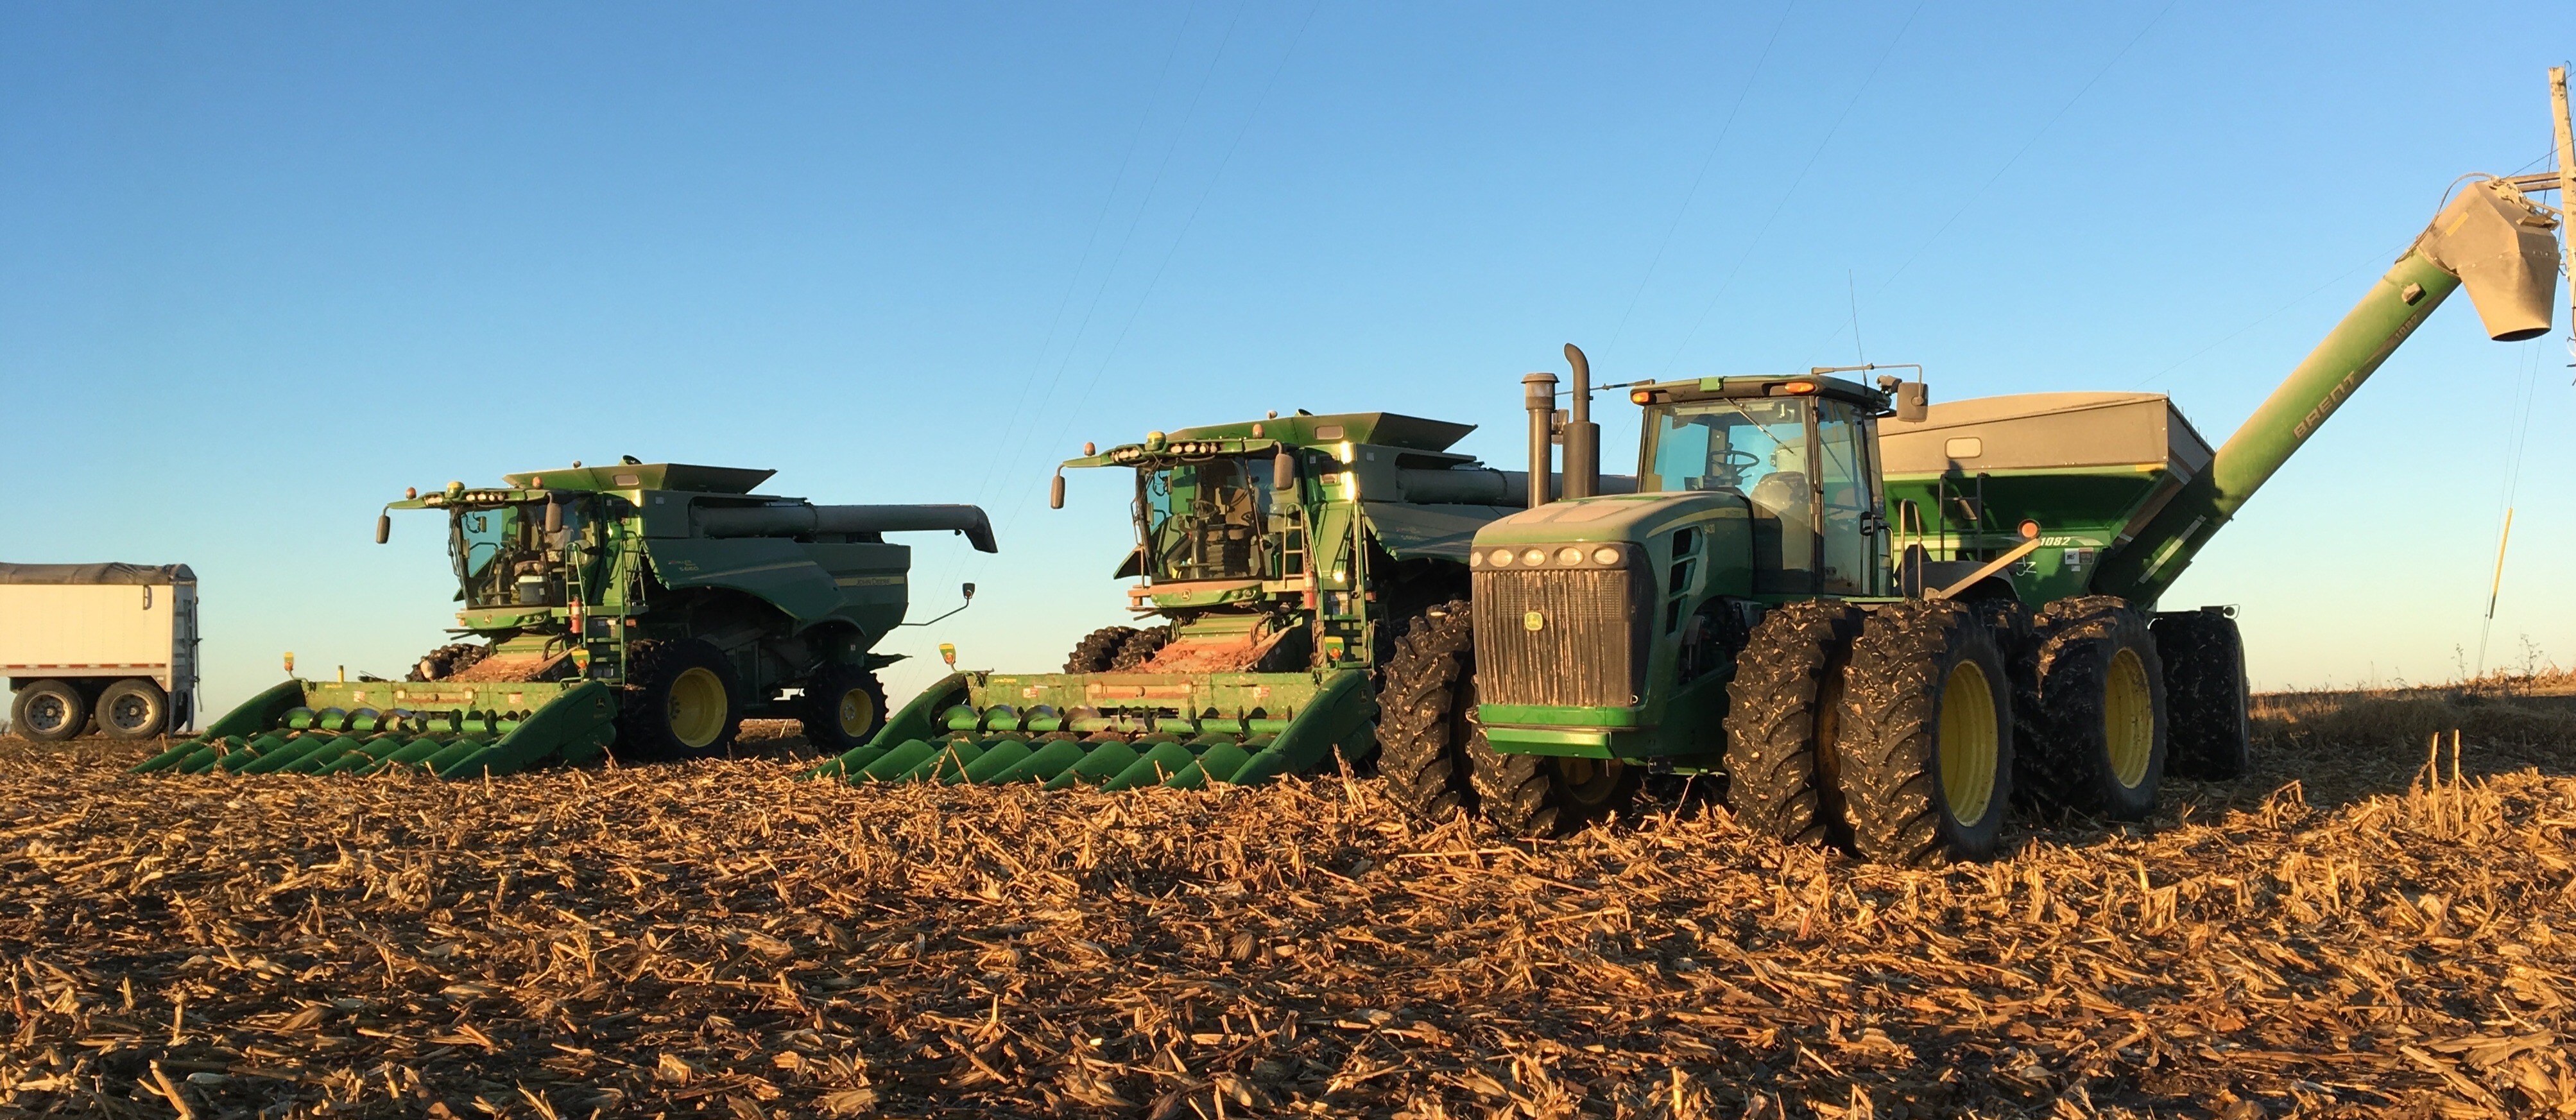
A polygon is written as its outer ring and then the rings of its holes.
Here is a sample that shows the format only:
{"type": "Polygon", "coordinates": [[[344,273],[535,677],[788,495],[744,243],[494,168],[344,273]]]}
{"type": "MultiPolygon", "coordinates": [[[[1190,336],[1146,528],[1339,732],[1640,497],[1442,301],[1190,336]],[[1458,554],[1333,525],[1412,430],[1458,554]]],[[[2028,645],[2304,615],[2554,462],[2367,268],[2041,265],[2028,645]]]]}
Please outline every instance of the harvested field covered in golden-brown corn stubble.
{"type": "Polygon", "coordinates": [[[2275,700],[2151,829],[0,747],[0,1115],[2576,1115],[2576,711],[2275,700]],[[2427,780],[2427,736],[2463,729],[2427,780]]]}

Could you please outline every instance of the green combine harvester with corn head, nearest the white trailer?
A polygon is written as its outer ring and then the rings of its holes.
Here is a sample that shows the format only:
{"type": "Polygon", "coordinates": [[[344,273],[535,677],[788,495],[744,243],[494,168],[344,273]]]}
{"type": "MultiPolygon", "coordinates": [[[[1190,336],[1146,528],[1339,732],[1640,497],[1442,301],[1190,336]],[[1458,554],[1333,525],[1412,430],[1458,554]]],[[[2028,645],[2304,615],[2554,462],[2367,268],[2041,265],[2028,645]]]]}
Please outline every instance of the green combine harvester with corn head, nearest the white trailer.
{"type": "Polygon", "coordinates": [[[629,458],[404,492],[386,510],[448,515],[451,633],[474,641],[410,680],[286,680],[134,770],[482,778],[721,754],[744,716],[858,747],[884,726],[894,657],[871,649],[904,621],[912,566],[884,533],[994,551],[992,525],[971,505],[752,494],[770,474],[629,458]]]}

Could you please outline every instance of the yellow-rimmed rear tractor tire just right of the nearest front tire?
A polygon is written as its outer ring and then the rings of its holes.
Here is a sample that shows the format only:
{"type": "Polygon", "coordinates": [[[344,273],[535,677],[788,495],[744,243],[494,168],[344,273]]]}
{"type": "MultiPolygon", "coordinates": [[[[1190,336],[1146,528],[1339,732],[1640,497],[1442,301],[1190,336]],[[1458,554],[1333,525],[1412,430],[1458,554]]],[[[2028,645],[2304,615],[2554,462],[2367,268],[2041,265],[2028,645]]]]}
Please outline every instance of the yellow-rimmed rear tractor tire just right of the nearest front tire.
{"type": "Polygon", "coordinates": [[[2143,821],[2164,783],[2164,659],[2115,595],[2056,600],[2032,628],[2014,695],[2012,785],[2043,808],[2143,821]]]}

